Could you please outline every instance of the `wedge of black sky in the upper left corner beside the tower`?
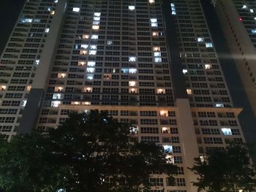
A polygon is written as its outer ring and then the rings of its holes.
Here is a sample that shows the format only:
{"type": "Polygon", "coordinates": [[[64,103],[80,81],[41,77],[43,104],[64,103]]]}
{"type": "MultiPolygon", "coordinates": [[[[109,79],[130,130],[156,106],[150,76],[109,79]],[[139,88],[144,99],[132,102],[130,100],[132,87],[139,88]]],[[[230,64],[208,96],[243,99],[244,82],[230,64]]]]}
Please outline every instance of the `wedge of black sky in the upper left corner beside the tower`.
{"type": "Polygon", "coordinates": [[[20,14],[20,9],[23,7],[24,0],[0,0],[0,53],[9,38],[12,28],[15,25],[20,14]]]}

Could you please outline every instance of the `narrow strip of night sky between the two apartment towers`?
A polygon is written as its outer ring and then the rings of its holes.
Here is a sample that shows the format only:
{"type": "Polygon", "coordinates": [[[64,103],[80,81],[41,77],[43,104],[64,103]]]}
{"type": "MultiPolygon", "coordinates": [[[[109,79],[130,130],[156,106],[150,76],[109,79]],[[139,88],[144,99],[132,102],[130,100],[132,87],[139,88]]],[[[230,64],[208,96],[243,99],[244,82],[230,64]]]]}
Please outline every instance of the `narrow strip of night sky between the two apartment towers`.
{"type": "MultiPolygon", "coordinates": [[[[214,10],[214,6],[211,4],[211,1],[206,0],[201,0],[201,4],[203,6],[204,14],[206,15],[208,28],[211,31],[211,37],[214,40],[217,53],[220,55],[230,55],[230,50],[227,47],[227,42],[214,10]]],[[[233,99],[234,106],[243,108],[243,111],[238,118],[241,123],[241,128],[244,131],[246,142],[256,142],[256,118],[253,115],[252,108],[244,91],[236,64],[231,57],[219,57],[219,61],[222,66],[222,71],[225,75],[225,80],[233,99]]],[[[256,165],[256,151],[253,158],[256,165]]]]}

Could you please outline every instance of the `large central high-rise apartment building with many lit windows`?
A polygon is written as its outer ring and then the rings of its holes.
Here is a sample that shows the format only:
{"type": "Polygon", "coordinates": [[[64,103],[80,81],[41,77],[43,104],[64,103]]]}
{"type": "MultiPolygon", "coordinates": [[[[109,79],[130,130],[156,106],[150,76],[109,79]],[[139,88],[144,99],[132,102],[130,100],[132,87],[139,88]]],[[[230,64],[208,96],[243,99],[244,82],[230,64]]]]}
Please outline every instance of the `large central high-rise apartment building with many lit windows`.
{"type": "Polygon", "coordinates": [[[108,110],[178,166],[151,192],[196,191],[193,158],[244,140],[199,0],[26,1],[0,67],[6,139],[108,110]]]}

